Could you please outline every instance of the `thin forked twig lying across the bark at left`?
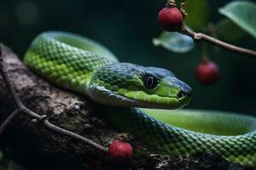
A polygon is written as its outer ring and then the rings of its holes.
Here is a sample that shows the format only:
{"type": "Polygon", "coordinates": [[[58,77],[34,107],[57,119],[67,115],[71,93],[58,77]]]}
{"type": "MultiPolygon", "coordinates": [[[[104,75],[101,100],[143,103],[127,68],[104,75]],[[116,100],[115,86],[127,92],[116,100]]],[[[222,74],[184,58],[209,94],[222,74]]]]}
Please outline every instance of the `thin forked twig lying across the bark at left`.
{"type": "Polygon", "coordinates": [[[20,101],[19,96],[17,95],[15,88],[13,87],[12,83],[9,81],[9,77],[7,76],[4,64],[3,64],[3,54],[2,54],[2,47],[0,45],[0,74],[3,77],[3,81],[6,83],[7,88],[9,89],[10,94],[14,97],[15,103],[18,107],[10,116],[3,122],[3,124],[0,126],[0,134],[3,133],[4,129],[9,125],[10,122],[12,122],[20,112],[23,112],[26,114],[26,116],[30,116],[33,119],[36,120],[36,122],[42,122],[44,124],[44,127],[49,128],[50,130],[54,131],[55,133],[61,133],[63,135],[69,136],[73,139],[78,139],[86,144],[90,144],[91,146],[95,147],[98,150],[102,150],[103,152],[108,152],[108,148],[105,148],[101,144],[96,144],[94,141],[90,139],[86,139],[83,136],[73,133],[71,131],[68,131],[64,128],[57,127],[51,122],[49,122],[46,118],[46,116],[40,116],[34,111],[31,111],[30,109],[27,109],[26,106],[22,104],[20,101]]]}

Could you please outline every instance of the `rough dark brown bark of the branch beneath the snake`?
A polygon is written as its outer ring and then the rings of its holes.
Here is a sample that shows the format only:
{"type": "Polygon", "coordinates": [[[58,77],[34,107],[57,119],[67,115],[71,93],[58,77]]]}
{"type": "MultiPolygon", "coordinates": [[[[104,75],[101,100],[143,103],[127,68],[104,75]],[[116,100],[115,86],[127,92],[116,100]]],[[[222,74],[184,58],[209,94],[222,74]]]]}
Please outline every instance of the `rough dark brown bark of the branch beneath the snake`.
{"type": "MultiPolygon", "coordinates": [[[[95,104],[79,94],[55,88],[29,71],[20,59],[3,47],[4,63],[9,78],[23,103],[59,127],[79,133],[99,144],[108,146],[119,133],[96,115],[95,104]]],[[[15,103],[0,77],[0,122],[15,103]]],[[[197,154],[183,159],[155,154],[137,139],[131,139],[135,150],[130,169],[246,169],[231,164],[219,156],[197,154]]],[[[108,156],[88,144],[49,131],[40,122],[20,114],[0,136],[3,153],[27,169],[113,169],[108,156]]]]}

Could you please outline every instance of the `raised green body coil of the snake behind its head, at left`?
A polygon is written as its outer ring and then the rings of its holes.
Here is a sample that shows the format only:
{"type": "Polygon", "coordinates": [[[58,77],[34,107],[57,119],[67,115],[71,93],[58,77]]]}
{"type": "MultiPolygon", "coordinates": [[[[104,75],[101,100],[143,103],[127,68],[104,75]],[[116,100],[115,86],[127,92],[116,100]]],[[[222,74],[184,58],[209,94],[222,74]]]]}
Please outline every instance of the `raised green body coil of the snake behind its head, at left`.
{"type": "Polygon", "coordinates": [[[96,71],[118,59],[107,48],[90,39],[65,32],[44,32],[34,39],[24,63],[56,86],[88,94],[96,71]]]}

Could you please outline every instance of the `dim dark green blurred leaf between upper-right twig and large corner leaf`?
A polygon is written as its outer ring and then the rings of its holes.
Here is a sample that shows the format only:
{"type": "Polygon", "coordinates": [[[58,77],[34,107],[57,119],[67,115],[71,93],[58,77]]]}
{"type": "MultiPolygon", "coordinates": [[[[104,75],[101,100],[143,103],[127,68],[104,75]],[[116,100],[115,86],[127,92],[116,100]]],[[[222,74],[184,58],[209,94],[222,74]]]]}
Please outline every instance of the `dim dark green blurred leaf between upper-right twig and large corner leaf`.
{"type": "Polygon", "coordinates": [[[222,19],[216,24],[216,35],[227,42],[236,42],[248,36],[247,31],[241,29],[232,20],[222,19]]]}

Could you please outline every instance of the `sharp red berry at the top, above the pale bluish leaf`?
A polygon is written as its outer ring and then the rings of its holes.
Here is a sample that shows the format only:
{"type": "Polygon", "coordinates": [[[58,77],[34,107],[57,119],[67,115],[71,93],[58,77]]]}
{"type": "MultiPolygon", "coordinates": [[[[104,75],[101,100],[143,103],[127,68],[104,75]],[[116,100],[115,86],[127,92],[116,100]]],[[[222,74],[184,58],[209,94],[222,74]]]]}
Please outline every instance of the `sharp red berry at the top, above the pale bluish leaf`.
{"type": "Polygon", "coordinates": [[[158,20],[165,31],[179,31],[183,26],[183,14],[175,7],[160,10],[158,20]]]}

